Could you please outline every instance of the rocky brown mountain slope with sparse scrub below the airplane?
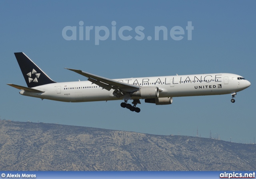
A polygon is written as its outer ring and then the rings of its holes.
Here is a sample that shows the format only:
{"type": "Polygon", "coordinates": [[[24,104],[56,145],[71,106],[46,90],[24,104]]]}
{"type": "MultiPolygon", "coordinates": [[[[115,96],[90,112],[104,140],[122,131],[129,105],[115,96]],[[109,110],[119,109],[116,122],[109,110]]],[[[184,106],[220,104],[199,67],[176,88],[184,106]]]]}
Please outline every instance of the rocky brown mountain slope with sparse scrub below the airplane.
{"type": "Polygon", "coordinates": [[[14,171],[252,171],[256,145],[0,120],[0,161],[14,171]]]}

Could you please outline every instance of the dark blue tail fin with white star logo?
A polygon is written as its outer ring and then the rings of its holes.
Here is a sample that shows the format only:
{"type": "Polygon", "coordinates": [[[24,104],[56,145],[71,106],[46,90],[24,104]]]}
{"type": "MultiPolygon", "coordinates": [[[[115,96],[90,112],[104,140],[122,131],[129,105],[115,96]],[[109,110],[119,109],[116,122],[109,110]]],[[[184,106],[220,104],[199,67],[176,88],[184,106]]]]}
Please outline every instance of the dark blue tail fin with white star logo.
{"type": "Polygon", "coordinates": [[[23,52],[14,53],[22,75],[29,88],[56,83],[52,81],[32,60],[30,60],[23,52]]]}

